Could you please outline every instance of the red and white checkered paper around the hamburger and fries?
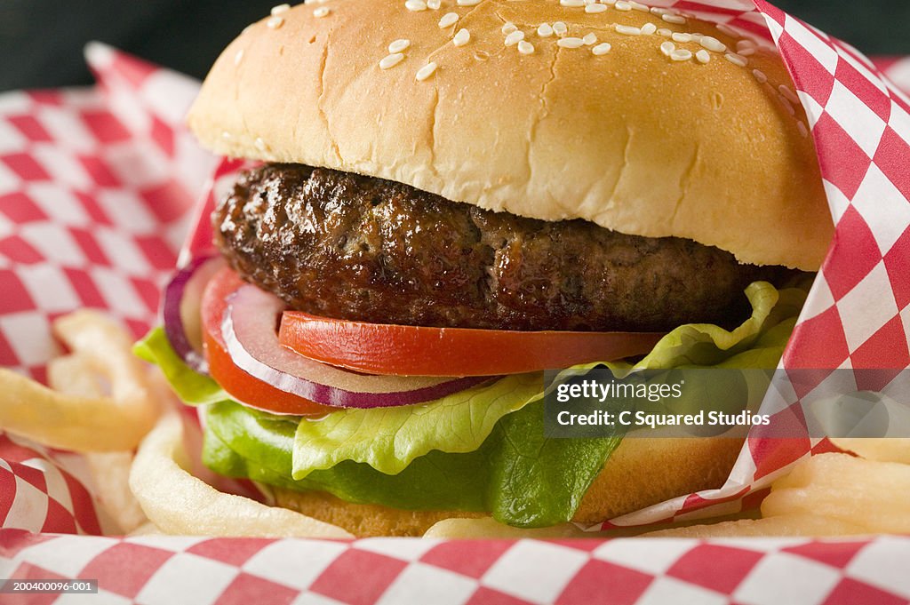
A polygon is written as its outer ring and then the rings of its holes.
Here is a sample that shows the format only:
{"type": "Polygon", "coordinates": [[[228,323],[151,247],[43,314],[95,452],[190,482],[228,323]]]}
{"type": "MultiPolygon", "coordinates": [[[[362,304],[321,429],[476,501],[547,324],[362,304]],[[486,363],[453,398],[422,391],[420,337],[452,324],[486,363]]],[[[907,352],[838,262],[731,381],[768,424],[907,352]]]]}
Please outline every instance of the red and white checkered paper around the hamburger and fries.
{"type": "MultiPolygon", "coordinates": [[[[875,66],[763,0],[652,4],[773,38],[807,110],[836,235],[782,368],[827,368],[821,382],[910,366],[910,60],[875,66]]],[[[87,56],[96,88],[0,95],[0,366],[38,379],[61,313],[106,309],[136,336],[155,322],[217,163],[181,123],[195,82],[102,45],[87,56]]],[[[765,409],[784,418],[804,395],[765,409]]],[[[753,506],[782,469],[828,449],[753,435],[722,489],[612,524],[753,506]]],[[[116,539],[98,535],[84,477],[79,457],[0,434],[0,577],[97,578],[85,599],[116,603],[910,600],[910,539],[116,539]]]]}

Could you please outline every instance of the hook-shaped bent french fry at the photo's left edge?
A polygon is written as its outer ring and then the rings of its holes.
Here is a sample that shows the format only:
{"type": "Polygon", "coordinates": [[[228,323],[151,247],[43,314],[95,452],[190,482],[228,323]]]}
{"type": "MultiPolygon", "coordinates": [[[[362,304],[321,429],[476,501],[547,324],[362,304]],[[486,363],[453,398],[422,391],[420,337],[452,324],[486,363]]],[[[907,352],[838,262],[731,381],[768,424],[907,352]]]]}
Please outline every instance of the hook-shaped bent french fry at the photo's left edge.
{"type": "MultiPolygon", "coordinates": [[[[134,449],[155,424],[158,408],[143,366],[134,358],[126,332],[93,311],[60,318],[55,328],[73,349],[80,368],[109,381],[107,397],[76,396],[45,388],[0,369],[0,429],[58,449],[78,452],[134,449]]],[[[66,364],[66,362],[63,362],[66,364]]],[[[59,366],[57,375],[74,366],[59,366]]],[[[77,378],[70,380],[70,385],[77,378]]],[[[87,378],[78,388],[86,388],[87,378]]]]}

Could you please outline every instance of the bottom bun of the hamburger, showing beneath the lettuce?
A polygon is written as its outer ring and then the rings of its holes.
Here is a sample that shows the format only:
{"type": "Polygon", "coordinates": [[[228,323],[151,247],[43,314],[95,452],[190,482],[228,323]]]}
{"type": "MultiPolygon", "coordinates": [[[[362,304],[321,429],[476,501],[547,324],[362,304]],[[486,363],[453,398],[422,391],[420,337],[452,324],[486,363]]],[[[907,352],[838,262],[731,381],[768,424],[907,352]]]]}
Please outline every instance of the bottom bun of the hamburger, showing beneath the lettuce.
{"type": "MultiPolygon", "coordinates": [[[[623,439],[581,499],[573,520],[597,523],[667,499],[723,485],[743,439],[623,439]]],[[[442,519],[487,514],[451,510],[400,510],[351,504],[319,491],[274,489],[275,503],[347,529],[359,538],[420,536],[442,519]]]]}

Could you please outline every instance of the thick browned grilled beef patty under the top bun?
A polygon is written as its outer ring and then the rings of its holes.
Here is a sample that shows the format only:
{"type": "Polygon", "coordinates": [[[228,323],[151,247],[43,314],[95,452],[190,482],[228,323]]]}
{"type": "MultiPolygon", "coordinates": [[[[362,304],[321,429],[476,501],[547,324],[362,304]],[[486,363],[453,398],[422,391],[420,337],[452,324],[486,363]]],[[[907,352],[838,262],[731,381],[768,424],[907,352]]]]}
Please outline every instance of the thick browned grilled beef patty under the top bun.
{"type": "Polygon", "coordinates": [[[733,325],[743,288],[784,267],[742,265],[678,237],[495,213],[370,176],[268,164],[213,215],[249,282],[330,318],[452,328],[669,330],[733,325]]]}

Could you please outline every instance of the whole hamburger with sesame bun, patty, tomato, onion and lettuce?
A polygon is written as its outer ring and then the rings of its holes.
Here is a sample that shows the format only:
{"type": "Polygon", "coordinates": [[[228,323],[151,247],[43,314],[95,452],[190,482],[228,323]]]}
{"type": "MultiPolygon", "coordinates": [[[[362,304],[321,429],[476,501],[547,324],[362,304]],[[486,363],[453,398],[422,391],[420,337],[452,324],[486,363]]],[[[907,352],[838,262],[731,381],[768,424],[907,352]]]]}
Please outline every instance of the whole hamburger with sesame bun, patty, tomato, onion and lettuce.
{"type": "Polygon", "coordinates": [[[359,536],[722,485],[741,439],[546,439],[540,370],[776,366],[833,226],[773,47],[622,0],[272,13],[188,116],[248,160],[193,346],[140,347],[207,465],[359,536]]]}

